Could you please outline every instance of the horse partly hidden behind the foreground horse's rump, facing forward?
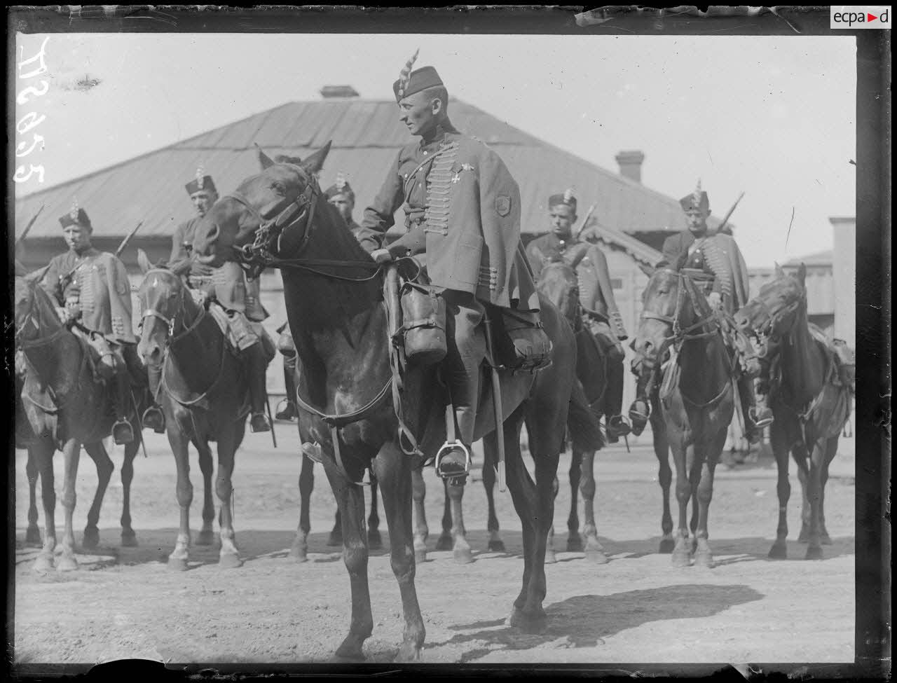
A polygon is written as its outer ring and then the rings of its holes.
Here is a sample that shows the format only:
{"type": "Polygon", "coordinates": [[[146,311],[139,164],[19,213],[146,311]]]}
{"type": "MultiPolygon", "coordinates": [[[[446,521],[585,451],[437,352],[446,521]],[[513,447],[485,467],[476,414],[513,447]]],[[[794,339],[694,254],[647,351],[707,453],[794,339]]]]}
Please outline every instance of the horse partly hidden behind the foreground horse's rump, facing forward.
{"type": "MultiPolygon", "coordinates": [[[[563,261],[545,264],[539,273],[538,289],[554,306],[561,311],[576,333],[577,364],[576,375],[582,390],[585,392],[589,407],[599,417],[602,414],[605,391],[607,388],[607,357],[598,348],[595,337],[582,320],[582,308],[579,306],[579,278],[576,264],[563,261]]],[[[598,541],[595,524],[595,453],[594,449],[583,450],[574,439],[570,456],[570,516],[567,518],[567,549],[585,550],[586,558],[604,564],[607,562],[604,548],[598,541]],[[579,501],[577,493],[582,493],[585,512],[585,524],[582,533],[586,537],[583,548],[579,536],[579,501]]],[[[549,534],[548,543],[551,549],[553,533],[549,534]]],[[[553,555],[553,549],[550,554],[553,555]]],[[[547,561],[547,560],[546,560],[547,561]]]]}

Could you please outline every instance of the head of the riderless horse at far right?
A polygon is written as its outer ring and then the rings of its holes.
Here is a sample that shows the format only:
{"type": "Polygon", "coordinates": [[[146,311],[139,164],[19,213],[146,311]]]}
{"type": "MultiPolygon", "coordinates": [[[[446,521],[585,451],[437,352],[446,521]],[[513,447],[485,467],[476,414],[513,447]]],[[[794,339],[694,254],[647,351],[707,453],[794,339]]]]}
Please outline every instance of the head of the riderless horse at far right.
{"type": "Polygon", "coordinates": [[[801,310],[806,312],[806,265],[800,264],[789,275],[776,264],[775,277],[738,310],[735,323],[746,334],[760,338],[764,353],[771,341],[788,335],[801,310]]]}

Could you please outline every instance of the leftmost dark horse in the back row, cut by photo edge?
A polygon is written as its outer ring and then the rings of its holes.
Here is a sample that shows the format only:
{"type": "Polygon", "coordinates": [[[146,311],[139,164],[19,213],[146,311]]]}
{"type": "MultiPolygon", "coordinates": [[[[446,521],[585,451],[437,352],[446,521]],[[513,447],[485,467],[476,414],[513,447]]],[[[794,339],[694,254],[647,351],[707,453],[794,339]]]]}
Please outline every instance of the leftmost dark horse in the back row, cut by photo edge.
{"type": "MultiPolygon", "coordinates": [[[[54,490],[53,454],[60,450],[65,457],[62,505],[65,508],[65,530],[62,555],[56,560],[59,571],[78,568],[74,556],[72,515],[76,500],[75,484],[81,447],[97,465],[98,486],[84,528],[83,547],[96,548],[100,542],[100,506],[109,486],[114,465],[102,440],[109,437],[115,415],[111,410],[115,388],[101,381],[94,368],[100,365],[99,353],[81,337],[71,332],[57,316],[48,294],[37,282],[15,278],[15,343],[22,351],[25,372],[20,396],[26,424],[16,426],[16,437],[26,445],[31,465],[29,484],[36,482],[39,472],[45,514],[44,543],[35,569],[47,571],[54,565],[56,548],[56,493],[54,490]]],[[[137,409],[145,406],[137,406],[137,409]]],[[[17,416],[18,417],[18,416],[17,416]]],[[[134,479],[134,458],[140,446],[140,426],[132,406],[128,413],[135,440],[125,446],[121,468],[124,503],[121,514],[121,542],[135,546],[137,537],[131,526],[131,481],[134,479]]],[[[29,522],[31,522],[31,509],[29,522]]],[[[37,509],[33,509],[36,523],[37,509]]],[[[31,524],[29,523],[29,526],[31,524]]]]}

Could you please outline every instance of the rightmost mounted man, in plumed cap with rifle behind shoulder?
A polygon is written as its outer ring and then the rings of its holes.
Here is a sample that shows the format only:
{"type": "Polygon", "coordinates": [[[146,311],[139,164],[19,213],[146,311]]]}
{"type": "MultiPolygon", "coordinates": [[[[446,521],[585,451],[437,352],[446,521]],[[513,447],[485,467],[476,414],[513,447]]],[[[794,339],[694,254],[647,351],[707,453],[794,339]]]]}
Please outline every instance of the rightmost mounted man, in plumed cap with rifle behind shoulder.
{"type": "MultiPolygon", "coordinates": [[[[763,368],[751,342],[733,324],[732,316],[748,301],[748,278],[745,259],[735,238],[726,232],[709,229],[710,200],[701,190],[701,181],[694,192],[679,200],[688,228],[677,235],[666,238],[663,259],[658,267],[671,267],[687,272],[692,281],[710,290],[708,303],[720,320],[723,338],[727,346],[736,354],[742,367],[738,375],[738,394],[745,415],[745,437],[750,443],[757,443],[762,430],[772,423],[772,411],[766,405],[767,383],[754,379],[763,374],[763,368]]],[[[633,428],[638,431],[648,419],[649,402],[639,396],[632,403],[630,418],[633,428]]]]}

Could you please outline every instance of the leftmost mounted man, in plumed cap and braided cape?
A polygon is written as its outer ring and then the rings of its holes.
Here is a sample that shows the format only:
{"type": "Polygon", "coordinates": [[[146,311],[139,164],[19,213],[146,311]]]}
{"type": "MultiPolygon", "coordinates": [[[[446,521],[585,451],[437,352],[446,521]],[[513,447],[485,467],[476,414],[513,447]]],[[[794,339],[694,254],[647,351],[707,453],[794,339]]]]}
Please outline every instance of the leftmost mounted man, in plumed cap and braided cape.
{"type": "Polygon", "coordinates": [[[137,356],[131,318],[131,283],[118,256],[91,246],[91,220],[77,202],[59,218],[69,250],[54,256],[40,287],[60,307],[59,316],[100,354],[100,376],[114,383],[116,444],[134,441],[127,421],[132,382],[139,385],[146,370],[137,356]]]}

